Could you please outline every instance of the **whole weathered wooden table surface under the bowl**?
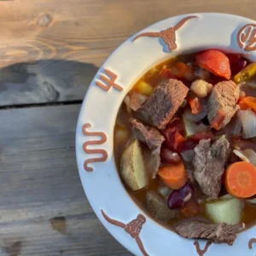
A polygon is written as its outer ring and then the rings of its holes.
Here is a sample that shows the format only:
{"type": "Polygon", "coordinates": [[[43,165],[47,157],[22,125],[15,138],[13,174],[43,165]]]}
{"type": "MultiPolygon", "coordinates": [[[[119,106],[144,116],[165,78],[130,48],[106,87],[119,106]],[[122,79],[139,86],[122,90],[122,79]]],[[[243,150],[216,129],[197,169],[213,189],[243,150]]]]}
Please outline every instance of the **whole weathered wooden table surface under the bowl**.
{"type": "Polygon", "coordinates": [[[155,21],[255,17],[254,0],[0,1],[0,255],[131,255],[96,218],[75,160],[84,93],[107,56],[155,21]]]}

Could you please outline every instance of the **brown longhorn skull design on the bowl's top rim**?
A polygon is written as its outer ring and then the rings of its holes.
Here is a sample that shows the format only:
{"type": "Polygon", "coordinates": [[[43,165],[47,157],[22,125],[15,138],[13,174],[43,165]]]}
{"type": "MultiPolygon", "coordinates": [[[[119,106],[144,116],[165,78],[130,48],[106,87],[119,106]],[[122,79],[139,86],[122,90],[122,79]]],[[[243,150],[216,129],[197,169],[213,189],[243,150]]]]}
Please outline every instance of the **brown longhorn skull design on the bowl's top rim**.
{"type": "Polygon", "coordinates": [[[165,43],[168,46],[168,49],[177,49],[177,44],[176,44],[176,32],[177,30],[183,26],[183,24],[190,19],[198,18],[197,16],[188,16],[184,18],[183,20],[179,21],[176,26],[169,27],[166,30],[162,30],[160,32],[144,32],[139,35],[137,35],[136,38],[133,39],[135,41],[137,38],[142,38],[142,37],[153,37],[153,38],[162,38],[165,43]]]}

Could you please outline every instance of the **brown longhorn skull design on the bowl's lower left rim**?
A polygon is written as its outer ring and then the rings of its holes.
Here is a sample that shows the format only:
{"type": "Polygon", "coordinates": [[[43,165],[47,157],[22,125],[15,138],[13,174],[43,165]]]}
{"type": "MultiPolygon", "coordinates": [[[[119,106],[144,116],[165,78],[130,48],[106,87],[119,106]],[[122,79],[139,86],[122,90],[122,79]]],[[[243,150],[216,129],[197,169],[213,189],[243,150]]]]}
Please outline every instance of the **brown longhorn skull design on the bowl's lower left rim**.
{"type": "Polygon", "coordinates": [[[146,222],[146,218],[142,214],[138,214],[136,219],[131,220],[130,223],[124,224],[116,219],[109,218],[108,215],[103,212],[103,217],[110,223],[120,228],[123,228],[128,234],[131,235],[132,238],[135,238],[137,241],[137,245],[142,251],[144,256],[149,256],[148,253],[145,251],[143,246],[143,241],[139,237],[141,230],[143,229],[143,224],[146,222]]]}

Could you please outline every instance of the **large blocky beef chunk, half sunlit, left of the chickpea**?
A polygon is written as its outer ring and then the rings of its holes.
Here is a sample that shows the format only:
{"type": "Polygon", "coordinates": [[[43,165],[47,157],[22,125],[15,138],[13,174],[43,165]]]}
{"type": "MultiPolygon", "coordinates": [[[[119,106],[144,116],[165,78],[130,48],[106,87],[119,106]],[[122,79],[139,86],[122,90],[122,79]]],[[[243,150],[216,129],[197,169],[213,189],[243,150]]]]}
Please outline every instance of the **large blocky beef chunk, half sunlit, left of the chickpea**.
{"type": "Polygon", "coordinates": [[[167,79],[157,86],[154,94],[137,110],[137,115],[148,125],[162,129],[177,112],[188,92],[189,88],[183,82],[167,79]]]}

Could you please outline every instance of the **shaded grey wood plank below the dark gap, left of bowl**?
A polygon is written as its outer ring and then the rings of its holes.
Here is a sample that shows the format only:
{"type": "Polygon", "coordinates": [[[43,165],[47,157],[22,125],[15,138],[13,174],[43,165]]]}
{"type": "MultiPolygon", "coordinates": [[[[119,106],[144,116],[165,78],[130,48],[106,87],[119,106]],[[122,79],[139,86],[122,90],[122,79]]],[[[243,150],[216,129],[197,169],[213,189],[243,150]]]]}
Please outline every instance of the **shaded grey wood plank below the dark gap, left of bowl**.
{"type": "Polygon", "coordinates": [[[79,108],[0,110],[1,256],[131,255],[84,195],[74,143],[79,108]]]}

